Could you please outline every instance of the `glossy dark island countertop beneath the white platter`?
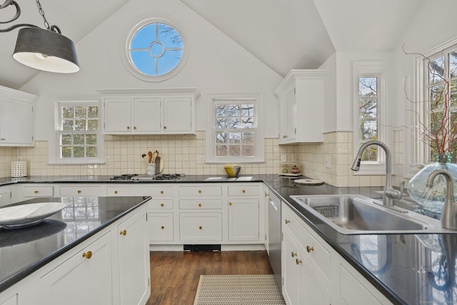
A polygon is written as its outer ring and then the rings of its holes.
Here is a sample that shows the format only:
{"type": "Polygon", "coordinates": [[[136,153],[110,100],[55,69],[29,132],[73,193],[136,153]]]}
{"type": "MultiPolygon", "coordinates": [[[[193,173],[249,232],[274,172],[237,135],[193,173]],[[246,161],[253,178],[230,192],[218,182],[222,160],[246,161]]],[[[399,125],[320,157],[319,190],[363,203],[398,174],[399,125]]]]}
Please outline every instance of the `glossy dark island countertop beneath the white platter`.
{"type": "Polygon", "coordinates": [[[12,205],[61,201],[66,207],[39,224],[0,226],[0,292],[129,214],[150,197],[52,197],[12,205]]]}

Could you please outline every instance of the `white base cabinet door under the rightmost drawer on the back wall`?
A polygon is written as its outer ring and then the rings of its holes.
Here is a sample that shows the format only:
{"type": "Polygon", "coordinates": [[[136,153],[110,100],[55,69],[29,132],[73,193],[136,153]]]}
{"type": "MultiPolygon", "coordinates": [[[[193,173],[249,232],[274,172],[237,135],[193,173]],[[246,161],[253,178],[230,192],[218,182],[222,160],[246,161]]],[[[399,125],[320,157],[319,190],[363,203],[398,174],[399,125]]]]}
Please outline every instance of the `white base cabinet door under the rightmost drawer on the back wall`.
{"type": "Polygon", "coordinates": [[[258,241],[258,199],[229,200],[229,241],[258,241]]]}

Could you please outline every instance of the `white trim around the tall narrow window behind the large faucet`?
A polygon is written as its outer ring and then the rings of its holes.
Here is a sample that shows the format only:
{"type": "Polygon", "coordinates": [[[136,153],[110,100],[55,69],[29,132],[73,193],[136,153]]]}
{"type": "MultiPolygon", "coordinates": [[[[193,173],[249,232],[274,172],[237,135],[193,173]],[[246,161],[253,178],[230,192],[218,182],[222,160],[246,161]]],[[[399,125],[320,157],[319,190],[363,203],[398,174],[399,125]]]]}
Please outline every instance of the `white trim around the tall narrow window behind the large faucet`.
{"type": "MultiPolygon", "coordinates": [[[[359,101],[358,81],[363,76],[378,76],[378,141],[386,143],[389,147],[389,139],[386,133],[386,64],[382,61],[354,61],[353,71],[353,158],[356,157],[361,146],[359,132],[359,101]]],[[[353,174],[358,175],[380,175],[386,173],[386,155],[383,149],[378,147],[378,161],[362,161],[359,171],[353,174]]],[[[393,154],[393,151],[392,151],[393,154]]],[[[393,156],[392,156],[393,158],[393,156]]],[[[394,163],[394,162],[392,162],[394,163]]],[[[393,164],[392,164],[393,165],[393,164]]],[[[393,168],[392,168],[393,171],[393,168]]]]}

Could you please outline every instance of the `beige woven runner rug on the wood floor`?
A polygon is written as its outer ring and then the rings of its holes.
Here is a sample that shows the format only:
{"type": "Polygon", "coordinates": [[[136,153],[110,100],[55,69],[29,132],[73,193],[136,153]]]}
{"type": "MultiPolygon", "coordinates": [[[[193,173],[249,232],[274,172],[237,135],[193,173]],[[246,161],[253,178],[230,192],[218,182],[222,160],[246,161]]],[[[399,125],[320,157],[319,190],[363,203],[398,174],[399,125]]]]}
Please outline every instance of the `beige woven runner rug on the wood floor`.
{"type": "Polygon", "coordinates": [[[273,274],[201,275],[194,305],[283,305],[273,274]]]}

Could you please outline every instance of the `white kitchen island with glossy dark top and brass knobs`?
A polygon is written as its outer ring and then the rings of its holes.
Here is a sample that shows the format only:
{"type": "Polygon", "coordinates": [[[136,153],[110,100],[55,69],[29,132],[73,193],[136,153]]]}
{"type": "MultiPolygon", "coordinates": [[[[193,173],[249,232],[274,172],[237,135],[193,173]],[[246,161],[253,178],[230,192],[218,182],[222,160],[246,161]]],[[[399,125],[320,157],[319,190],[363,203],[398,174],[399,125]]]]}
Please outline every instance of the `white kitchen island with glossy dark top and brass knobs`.
{"type": "Polygon", "coordinates": [[[0,304],[145,304],[149,200],[67,196],[17,203],[66,207],[39,224],[0,227],[0,304]]]}

